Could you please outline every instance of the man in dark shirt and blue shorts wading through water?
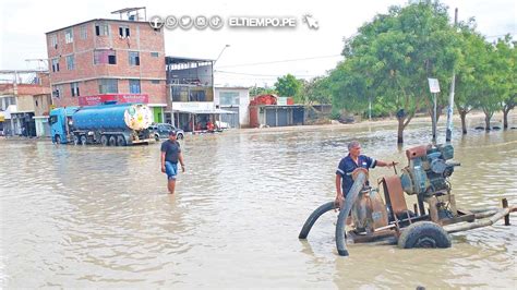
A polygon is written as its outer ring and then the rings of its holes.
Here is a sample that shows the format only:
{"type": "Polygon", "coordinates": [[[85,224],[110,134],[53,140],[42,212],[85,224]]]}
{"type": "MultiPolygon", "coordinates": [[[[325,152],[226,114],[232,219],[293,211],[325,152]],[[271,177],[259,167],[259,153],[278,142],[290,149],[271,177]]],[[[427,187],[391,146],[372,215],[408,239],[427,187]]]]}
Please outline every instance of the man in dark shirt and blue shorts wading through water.
{"type": "Polygon", "coordinates": [[[180,144],[176,140],[176,131],[169,132],[169,140],[161,143],[161,172],[167,173],[167,189],[170,194],[175,194],[176,176],[178,174],[178,161],[181,171],[185,171],[183,155],[181,155],[180,144]]]}

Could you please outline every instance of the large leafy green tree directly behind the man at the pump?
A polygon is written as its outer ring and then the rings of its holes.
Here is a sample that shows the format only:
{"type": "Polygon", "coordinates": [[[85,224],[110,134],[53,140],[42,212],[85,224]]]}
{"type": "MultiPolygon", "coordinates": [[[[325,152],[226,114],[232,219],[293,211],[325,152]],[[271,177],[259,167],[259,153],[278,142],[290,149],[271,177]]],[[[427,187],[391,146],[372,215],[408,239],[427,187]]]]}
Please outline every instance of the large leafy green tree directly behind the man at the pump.
{"type": "MultiPolygon", "coordinates": [[[[356,99],[361,107],[382,97],[386,107],[396,108],[397,143],[404,142],[414,112],[432,98],[428,77],[448,84],[460,57],[447,8],[438,2],[392,7],[347,39],[342,55],[346,60],[333,72],[341,82],[333,104],[356,99]]],[[[445,99],[446,89],[441,95],[445,99]]]]}

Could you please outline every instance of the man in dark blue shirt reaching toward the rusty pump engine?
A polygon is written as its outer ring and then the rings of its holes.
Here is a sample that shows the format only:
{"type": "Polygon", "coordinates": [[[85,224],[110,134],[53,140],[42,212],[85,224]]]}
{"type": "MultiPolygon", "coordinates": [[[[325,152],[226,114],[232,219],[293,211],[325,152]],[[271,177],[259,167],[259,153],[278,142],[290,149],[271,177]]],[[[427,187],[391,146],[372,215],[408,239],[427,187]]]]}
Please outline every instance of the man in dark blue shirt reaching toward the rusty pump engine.
{"type": "MultiPolygon", "coordinates": [[[[382,160],[375,160],[365,155],[361,155],[361,144],[357,141],[352,141],[348,144],[348,156],[344,157],[339,161],[339,166],[336,170],[336,207],[341,208],[345,198],[347,197],[348,192],[352,188],[353,179],[352,172],[357,168],[364,168],[366,171],[370,168],[380,167],[392,167],[397,165],[397,162],[385,162],[382,160]],[[342,182],[341,182],[342,180],[342,182]]],[[[366,185],[368,185],[366,181],[366,185]]]]}

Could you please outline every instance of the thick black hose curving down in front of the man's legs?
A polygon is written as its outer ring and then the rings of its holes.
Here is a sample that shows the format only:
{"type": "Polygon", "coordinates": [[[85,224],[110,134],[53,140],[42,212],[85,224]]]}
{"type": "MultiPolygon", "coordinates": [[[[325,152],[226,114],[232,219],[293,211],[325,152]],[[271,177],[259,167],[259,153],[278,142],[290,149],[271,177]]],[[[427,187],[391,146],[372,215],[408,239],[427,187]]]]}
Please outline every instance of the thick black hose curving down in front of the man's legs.
{"type": "Polygon", "coordinates": [[[357,197],[359,196],[359,193],[361,192],[365,181],[366,181],[366,174],[362,171],[359,172],[356,178],[356,181],[353,181],[352,188],[347,194],[345,204],[339,210],[339,216],[337,217],[337,225],[336,225],[336,247],[337,247],[337,253],[340,256],[348,256],[345,226],[346,226],[347,217],[350,214],[350,210],[352,209],[352,205],[356,202],[357,197]]]}

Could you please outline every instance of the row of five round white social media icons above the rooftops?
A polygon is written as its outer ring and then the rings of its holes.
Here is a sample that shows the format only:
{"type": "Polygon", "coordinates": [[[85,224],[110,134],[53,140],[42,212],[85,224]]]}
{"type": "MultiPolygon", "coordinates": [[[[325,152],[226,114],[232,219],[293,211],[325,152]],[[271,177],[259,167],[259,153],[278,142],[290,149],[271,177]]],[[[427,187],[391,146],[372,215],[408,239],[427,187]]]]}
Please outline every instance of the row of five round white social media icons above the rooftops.
{"type": "Polygon", "coordinates": [[[214,15],[212,17],[206,17],[203,15],[196,17],[191,17],[189,15],[176,17],[173,15],[168,15],[165,17],[165,20],[158,15],[155,15],[151,17],[149,24],[153,28],[161,28],[165,26],[167,29],[176,29],[177,27],[180,27],[187,31],[194,26],[195,28],[202,31],[208,26],[212,29],[219,29],[225,23],[223,17],[218,15],[214,15]]]}

